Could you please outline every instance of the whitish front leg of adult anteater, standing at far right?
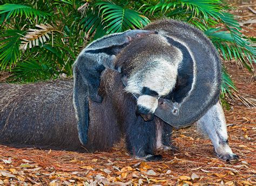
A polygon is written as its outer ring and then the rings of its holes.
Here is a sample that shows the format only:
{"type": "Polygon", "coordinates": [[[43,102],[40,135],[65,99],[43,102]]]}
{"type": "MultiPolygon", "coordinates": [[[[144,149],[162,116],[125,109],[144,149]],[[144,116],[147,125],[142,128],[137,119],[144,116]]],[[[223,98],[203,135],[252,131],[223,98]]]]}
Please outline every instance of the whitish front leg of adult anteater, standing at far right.
{"type": "Polygon", "coordinates": [[[197,123],[199,129],[210,137],[215,153],[221,160],[238,159],[238,156],[228,146],[225,115],[219,102],[211,107],[197,123]]]}

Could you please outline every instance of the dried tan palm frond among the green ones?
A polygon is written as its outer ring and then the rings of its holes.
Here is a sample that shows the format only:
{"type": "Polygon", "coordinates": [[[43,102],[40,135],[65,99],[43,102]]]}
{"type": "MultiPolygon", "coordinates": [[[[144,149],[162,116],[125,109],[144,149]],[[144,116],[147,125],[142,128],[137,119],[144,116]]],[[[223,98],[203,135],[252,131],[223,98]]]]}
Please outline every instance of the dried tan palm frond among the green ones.
{"type": "Polygon", "coordinates": [[[29,48],[39,46],[39,42],[43,45],[46,40],[50,39],[49,34],[53,35],[53,32],[55,31],[60,32],[50,24],[40,24],[36,25],[36,27],[39,27],[40,29],[29,29],[26,35],[21,38],[25,42],[22,42],[22,44],[19,45],[20,50],[25,51],[28,48],[28,45],[29,48]]]}

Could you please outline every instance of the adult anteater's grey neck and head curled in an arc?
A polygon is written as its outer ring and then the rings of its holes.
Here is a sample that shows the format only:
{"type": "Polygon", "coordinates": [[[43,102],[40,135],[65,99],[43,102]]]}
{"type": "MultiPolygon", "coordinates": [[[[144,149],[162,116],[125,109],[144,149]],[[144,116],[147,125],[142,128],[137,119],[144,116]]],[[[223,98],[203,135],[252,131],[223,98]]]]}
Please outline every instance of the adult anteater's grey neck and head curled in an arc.
{"type": "MultiPolygon", "coordinates": [[[[181,77],[177,77],[178,87],[173,89],[169,97],[167,97],[180,104],[179,115],[170,114],[170,111],[165,111],[161,107],[158,107],[156,111],[156,114],[161,119],[174,127],[189,126],[203,116],[219,99],[221,86],[221,61],[219,54],[203,32],[186,23],[172,19],[163,19],[147,25],[144,29],[158,31],[158,35],[174,40],[174,42],[183,45],[189,52],[191,61],[188,63],[193,64],[192,87],[189,91],[185,91],[185,93],[181,91],[179,88],[180,82],[183,81],[181,75],[181,77]],[[176,97],[181,96],[184,98],[177,101],[176,97]]],[[[129,50],[129,47],[126,47],[126,51],[129,50]]],[[[163,56],[169,56],[170,52],[163,52],[163,56]]],[[[183,62],[180,63],[178,72],[188,71],[182,65],[183,62]]]]}

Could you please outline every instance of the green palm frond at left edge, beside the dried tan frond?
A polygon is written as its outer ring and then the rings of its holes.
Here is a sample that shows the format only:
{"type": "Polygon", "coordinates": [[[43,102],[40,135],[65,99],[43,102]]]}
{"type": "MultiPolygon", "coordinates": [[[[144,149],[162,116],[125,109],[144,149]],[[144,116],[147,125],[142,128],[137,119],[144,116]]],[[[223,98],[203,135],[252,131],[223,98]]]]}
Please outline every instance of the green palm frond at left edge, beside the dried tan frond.
{"type": "Polygon", "coordinates": [[[6,30],[0,38],[0,67],[5,70],[7,66],[11,67],[21,59],[21,52],[19,51],[19,44],[21,37],[25,32],[21,30],[6,30]]]}

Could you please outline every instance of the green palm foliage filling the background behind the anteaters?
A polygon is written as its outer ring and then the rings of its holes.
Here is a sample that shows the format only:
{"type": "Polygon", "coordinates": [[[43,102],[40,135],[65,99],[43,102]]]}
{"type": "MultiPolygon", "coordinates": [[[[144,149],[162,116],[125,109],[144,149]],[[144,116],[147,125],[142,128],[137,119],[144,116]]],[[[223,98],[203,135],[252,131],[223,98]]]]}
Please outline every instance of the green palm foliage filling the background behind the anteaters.
{"type": "MultiPolygon", "coordinates": [[[[255,63],[252,40],[242,35],[237,19],[227,12],[230,7],[220,0],[0,3],[0,67],[12,72],[12,81],[70,76],[76,56],[93,39],[141,29],[161,17],[183,20],[204,31],[224,60],[235,59],[250,71],[255,63]]],[[[237,89],[226,71],[223,79],[223,97],[234,95],[237,89]]]]}

